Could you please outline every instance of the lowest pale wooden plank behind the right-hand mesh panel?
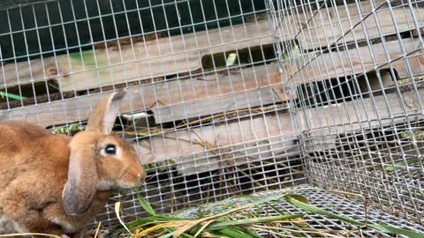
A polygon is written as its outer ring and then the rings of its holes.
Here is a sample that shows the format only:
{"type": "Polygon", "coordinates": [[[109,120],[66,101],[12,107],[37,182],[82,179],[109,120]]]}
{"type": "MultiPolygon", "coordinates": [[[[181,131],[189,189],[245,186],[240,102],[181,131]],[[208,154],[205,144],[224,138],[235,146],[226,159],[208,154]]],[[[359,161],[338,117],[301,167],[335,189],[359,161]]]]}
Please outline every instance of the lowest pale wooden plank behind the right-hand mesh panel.
{"type": "Polygon", "coordinates": [[[344,131],[369,128],[378,125],[383,118],[390,123],[390,115],[398,116],[397,121],[405,120],[405,113],[424,114],[420,111],[418,97],[422,101],[424,88],[413,91],[387,93],[363,100],[352,100],[319,108],[301,110],[296,116],[301,130],[314,135],[336,135],[344,131]]]}

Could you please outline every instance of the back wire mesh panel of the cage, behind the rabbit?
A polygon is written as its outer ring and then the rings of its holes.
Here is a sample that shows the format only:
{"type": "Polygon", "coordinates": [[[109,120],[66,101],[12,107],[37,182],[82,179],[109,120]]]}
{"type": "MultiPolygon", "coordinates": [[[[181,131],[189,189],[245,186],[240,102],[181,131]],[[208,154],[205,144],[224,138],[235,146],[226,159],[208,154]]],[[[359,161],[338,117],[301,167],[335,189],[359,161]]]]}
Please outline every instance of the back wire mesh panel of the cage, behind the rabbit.
{"type": "Polygon", "coordinates": [[[305,182],[267,13],[262,0],[4,8],[0,116],[72,135],[128,88],[113,133],[139,145],[148,176],[110,200],[104,226],[118,200],[123,219],[143,215],[137,194],[172,212],[305,182]]]}

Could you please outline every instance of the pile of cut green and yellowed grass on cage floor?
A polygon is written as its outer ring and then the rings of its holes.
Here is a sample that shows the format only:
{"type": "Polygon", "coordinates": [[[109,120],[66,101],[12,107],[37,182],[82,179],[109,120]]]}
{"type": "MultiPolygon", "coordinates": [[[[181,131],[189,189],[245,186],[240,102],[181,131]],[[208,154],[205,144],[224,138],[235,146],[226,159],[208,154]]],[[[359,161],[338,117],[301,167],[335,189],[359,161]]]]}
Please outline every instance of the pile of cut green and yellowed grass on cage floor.
{"type": "MultiPolygon", "coordinates": [[[[306,197],[291,192],[281,192],[270,197],[231,197],[216,204],[201,205],[195,210],[190,209],[173,214],[158,214],[146,199],[139,197],[140,205],[148,212],[148,217],[135,219],[126,224],[119,219],[121,224],[116,227],[111,236],[114,238],[257,238],[305,237],[306,235],[348,237],[355,231],[374,230],[384,234],[403,234],[413,238],[424,237],[424,234],[411,230],[367,223],[367,219],[365,221],[357,220],[342,214],[328,212],[311,205],[306,197]],[[295,206],[299,212],[288,213],[279,209],[275,202],[282,200],[295,206]],[[193,214],[193,211],[196,212],[193,214]],[[352,227],[352,229],[341,231],[314,228],[316,226],[308,226],[314,221],[307,219],[307,215],[320,215],[326,219],[338,220],[340,224],[345,224],[345,227],[352,227]]],[[[115,208],[119,217],[120,204],[117,203],[115,208]]],[[[365,217],[367,218],[367,216],[365,217]]]]}

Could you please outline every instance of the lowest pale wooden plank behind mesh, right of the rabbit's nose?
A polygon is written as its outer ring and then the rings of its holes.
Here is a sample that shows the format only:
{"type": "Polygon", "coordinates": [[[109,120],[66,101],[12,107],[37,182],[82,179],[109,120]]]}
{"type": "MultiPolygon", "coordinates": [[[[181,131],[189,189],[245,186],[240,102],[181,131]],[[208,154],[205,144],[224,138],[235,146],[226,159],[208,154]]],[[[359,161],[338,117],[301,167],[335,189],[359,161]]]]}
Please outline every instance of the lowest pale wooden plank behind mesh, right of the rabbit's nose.
{"type": "Polygon", "coordinates": [[[222,167],[225,158],[217,154],[230,156],[227,161],[234,165],[295,155],[299,153],[297,138],[290,114],[278,113],[143,139],[140,158],[146,163],[172,160],[178,172],[193,175],[222,167]]]}

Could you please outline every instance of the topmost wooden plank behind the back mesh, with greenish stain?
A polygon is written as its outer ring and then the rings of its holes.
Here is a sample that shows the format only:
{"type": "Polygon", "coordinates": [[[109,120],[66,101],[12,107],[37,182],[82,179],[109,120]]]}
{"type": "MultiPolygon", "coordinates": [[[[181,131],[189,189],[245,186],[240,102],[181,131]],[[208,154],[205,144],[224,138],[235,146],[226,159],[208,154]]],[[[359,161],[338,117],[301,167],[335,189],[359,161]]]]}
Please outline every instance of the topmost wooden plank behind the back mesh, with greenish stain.
{"type": "MultiPolygon", "coordinates": [[[[94,48],[22,63],[6,64],[0,81],[7,86],[55,78],[62,92],[115,85],[201,69],[201,57],[272,43],[268,20],[199,33],[127,41],[110,48],[94,48]]],[[[4,87],[4,86],[3,86],[4,87]]]]}

